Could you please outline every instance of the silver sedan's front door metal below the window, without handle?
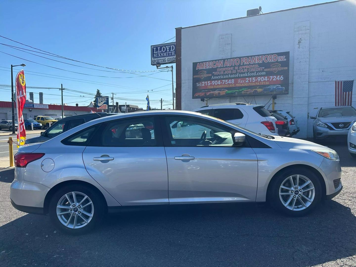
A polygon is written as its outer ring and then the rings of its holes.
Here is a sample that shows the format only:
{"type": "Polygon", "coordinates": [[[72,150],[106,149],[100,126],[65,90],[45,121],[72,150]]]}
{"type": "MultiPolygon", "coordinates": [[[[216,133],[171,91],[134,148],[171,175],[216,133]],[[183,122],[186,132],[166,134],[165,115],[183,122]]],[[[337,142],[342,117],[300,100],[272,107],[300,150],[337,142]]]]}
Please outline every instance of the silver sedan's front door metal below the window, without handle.
{"type": "Polygon", "coordinates": [[[252,148],[166,147],[166,155],[170,204],[256,200],[257,157],[252,148]],[[194,159],[174,159],[182,155],[194,159]]]}

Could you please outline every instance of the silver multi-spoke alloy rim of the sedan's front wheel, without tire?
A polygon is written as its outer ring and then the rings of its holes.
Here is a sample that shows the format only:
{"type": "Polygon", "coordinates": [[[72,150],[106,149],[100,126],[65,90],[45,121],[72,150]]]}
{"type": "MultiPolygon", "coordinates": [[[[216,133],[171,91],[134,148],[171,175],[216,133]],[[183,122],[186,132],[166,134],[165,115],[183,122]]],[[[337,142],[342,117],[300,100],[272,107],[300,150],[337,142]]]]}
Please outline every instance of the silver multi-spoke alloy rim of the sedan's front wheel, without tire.
{"type": "Polygon", "coordinates": [[[279,199],[290,210],[304,210],[308,208],[315,197],[312,181],[300,174],[287,177],[279,187],[279,199]]]}

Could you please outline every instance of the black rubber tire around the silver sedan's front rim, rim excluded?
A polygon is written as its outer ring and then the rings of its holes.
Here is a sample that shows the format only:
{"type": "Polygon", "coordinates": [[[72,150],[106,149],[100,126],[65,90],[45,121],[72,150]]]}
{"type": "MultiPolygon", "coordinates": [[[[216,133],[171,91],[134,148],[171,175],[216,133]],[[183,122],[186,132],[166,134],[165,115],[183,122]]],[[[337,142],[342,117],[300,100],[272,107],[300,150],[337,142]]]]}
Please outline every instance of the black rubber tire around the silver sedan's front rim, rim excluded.
{"type": "Polygon", "coordinates": [[[268,192],[267,192],[269,204],[271,204],[272,207],[278,210],[279,212],[292,217],[304,216],[310,213],[312,210],[314,210],[319,205],[322,199],[322,194],[323,194],[323,190],[319,178],[307,168],[300,168],[300,167],[286,169],[278,173],[277,176],[274,176],[272,178],[271,184],[268,187],[268,192]],[[307,177],[313,183],[315,188],[314,200],[312,201],[312,203],[310,203],[310,205],[307,208],[303,210],[288,209],[286,208],[286,206],[282,204],[282,201],[279,198],[279,188],[281,187],[283,181],[289,176],[295,174],[299,174],[307,177]]]}

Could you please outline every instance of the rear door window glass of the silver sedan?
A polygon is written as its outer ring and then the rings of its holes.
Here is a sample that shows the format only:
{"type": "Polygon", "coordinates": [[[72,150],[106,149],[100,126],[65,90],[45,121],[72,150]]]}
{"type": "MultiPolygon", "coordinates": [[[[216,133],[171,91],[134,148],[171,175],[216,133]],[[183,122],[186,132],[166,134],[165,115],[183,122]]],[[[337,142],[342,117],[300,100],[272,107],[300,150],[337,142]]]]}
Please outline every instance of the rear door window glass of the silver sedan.
{"type": "Polygon", "coordinates": [[[153,117],[137,117],[108,122],[103,132],[98,131],[90,146],[156,146],[153,117]]]}

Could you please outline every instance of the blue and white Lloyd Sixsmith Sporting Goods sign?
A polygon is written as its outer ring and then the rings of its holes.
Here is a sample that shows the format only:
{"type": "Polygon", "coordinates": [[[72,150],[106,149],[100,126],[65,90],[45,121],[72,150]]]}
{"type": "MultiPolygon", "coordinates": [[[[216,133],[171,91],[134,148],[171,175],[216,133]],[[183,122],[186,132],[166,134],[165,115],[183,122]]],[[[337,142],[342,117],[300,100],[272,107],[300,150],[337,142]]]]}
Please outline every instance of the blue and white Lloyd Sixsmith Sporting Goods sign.
{"type": "Polygon", "coordinates": [[[151,65],[176,63],[176,43],[151,46],[151,65]]]}

